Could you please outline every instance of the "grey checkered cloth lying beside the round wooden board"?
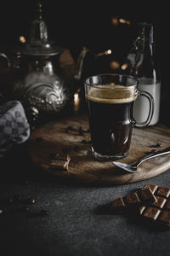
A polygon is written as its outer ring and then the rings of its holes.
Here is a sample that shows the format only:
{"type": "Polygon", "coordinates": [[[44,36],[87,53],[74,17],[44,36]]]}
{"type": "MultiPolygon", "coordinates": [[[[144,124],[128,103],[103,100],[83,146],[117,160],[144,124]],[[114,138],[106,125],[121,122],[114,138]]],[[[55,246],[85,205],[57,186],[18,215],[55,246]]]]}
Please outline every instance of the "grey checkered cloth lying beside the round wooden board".
{"type": "Polygon", "coordinates": [[[25,110],[19,101],[0,105],[0,158],[30,136],[30,125],[25,110]]]}

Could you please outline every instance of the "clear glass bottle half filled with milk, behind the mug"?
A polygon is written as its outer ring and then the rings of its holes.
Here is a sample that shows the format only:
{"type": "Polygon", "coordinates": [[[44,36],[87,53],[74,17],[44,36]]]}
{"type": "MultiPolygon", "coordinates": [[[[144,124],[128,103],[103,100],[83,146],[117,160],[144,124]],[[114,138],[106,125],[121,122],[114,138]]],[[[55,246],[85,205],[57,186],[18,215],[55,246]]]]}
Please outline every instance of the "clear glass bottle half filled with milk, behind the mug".
{"type": "MultiPolygon", "coordinates": [[[[139,37],[127,55],[128,73],[139,80],[139,90],[147,91],[154,98],[155,109],[150,125],[156,125],[160,115],[161,74],[156,61],[154,27],[149,23],[139,24],[139,37]]],[[[150,111],[149,102],[144,96],[134,103],[133,117],[143,122],[150,111]]]]}

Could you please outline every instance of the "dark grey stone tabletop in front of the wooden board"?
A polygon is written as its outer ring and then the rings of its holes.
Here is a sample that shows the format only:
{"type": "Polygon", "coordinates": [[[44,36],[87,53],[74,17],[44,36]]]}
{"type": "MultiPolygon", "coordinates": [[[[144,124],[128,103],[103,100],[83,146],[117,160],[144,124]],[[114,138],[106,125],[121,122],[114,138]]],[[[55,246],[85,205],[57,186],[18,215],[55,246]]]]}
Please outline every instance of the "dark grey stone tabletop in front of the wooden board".
{"type": "Polygon", "coordinates": [[[110,187],[69,183],[32,166],[26,145],[1,160],[0,244],[6,255],[170,255],[170,230],[107,205],[145,183],[170,186],[170,171],[110,187]]]}

